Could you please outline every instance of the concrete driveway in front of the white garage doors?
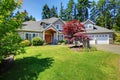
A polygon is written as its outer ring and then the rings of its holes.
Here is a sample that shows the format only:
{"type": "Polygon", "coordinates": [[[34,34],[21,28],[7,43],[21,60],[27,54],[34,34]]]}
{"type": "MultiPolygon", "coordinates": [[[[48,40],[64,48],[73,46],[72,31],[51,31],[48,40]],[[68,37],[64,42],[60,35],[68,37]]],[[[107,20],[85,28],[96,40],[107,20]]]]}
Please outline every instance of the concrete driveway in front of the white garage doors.
{"type": "Polygon", "coordinates": [[[95,46],[98,50],[103,50],[103,51],[109,51],[113,53],[120,54],[120,45],[93,45],[95,46]]]}

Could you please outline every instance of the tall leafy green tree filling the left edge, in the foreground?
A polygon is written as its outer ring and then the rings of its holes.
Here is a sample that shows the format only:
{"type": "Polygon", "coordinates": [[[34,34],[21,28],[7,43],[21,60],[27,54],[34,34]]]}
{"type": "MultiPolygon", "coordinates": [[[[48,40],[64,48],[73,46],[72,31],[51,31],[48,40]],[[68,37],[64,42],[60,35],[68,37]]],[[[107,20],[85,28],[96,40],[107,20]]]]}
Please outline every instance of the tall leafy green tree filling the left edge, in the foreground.
{"type": "MultiPolygon", "coordinates": [[[[13,54],[24,52],[24,48],[19,45],[21,39],[16,33],[22,23],[22,14],[13,16],[12,13],[19,8],[21,1],[0,0],[0,56],[1,59],[13,54]]],[[[0,60],[1,60],[0,59],[0,60]]]]}

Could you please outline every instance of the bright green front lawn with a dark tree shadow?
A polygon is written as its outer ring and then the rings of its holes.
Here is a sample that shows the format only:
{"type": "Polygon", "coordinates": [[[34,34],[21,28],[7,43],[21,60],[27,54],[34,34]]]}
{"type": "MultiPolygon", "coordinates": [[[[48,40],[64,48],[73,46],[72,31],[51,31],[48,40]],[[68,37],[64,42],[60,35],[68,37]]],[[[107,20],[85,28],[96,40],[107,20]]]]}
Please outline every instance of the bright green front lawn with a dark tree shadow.
{"type": "Polygon", "coordinates": [[[74,52],[67,46],[27,47],[0,80],[120,80],[120,55],[74,52]]]}

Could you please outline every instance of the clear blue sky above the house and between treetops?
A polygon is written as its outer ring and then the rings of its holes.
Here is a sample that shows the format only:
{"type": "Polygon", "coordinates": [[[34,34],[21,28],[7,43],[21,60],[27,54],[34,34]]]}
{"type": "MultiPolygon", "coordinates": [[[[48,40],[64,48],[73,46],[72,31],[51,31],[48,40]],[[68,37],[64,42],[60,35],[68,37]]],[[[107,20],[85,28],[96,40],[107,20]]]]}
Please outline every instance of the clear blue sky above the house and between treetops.
{"type": "MultiPolygon", "coordinates": [[[[27,10],[29,15],[32,15],[36,18],[37,21],[41,20],[42,17],[42,8],[45,4],[48,4],[48,6],[51,8],[53,5],[57,7],[58,13],[60,9],[60,3],[63,3],[64,8],[66,8],[66,5],[69,0],[23,0],[20,11],[27,10]]],[[[77,0],[74,0],[77,2],[77,0]]]]}

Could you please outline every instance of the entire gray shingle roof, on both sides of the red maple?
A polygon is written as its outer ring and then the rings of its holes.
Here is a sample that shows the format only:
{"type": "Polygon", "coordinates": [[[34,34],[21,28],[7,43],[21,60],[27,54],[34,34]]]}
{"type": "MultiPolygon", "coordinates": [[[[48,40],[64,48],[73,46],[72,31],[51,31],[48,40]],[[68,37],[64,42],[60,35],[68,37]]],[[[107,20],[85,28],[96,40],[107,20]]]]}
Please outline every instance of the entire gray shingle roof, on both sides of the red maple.
{"type": "MultiPolygon", "coordinates": [[[[53,24],[57,20],[59,20],[59,18],[52,17],[50,19],[43,19],[43,20],[38,21],[38,22],[27,21],[27,22],[24,22],[22,24],[22,28],[18,29],[18,30],[42,32],[42,31],[45,30],[45,28],[43,28],[43,26],[40,25],[41,22],[48,23],[48,24],[53,24]]],[[[90,20],[87,20],[87,21],[91,22],[90,20]]],[[[82,24],[85,24],[87,21],[83,22],[82,24]]],[[[91,22],[91,23],[93,23],[93,22],[91,22]]],[[[110,32],[113,32],[113,31],[109,30],[109,29],[106,29],[106,28],[103,28],[103,27],[100,27],[100,26],[97,26],[97,25],[94,25],[93,30],[86,30],[86,32],[87,33],[110,33],[110,32]]]]}

